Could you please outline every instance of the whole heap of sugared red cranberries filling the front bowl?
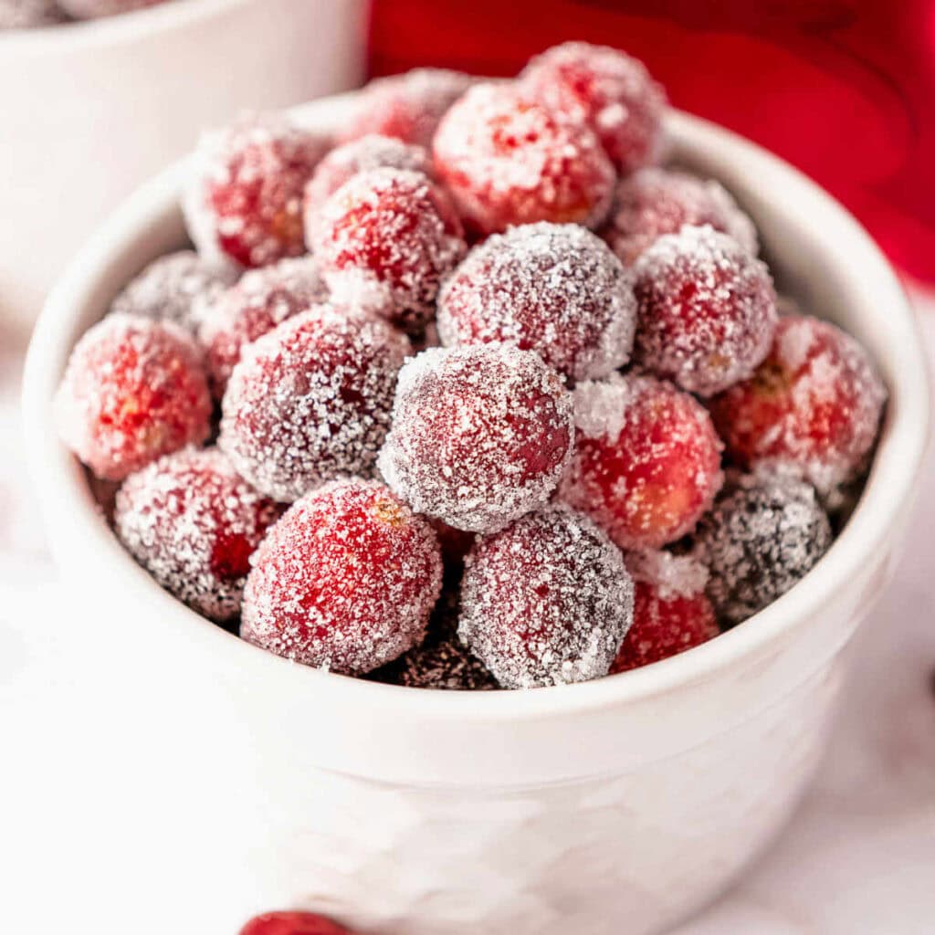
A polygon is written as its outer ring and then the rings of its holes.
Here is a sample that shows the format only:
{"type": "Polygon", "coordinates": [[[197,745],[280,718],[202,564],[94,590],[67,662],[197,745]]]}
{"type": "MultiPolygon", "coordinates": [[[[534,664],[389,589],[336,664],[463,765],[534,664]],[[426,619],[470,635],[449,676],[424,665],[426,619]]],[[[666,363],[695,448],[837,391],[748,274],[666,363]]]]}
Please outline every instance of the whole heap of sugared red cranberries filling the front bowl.
{"type": "Polygon", "coordinates": [[[375,81],[336,137],[206,137],[194,250],[126,286],[57,399],[127,551],[256,646],[420,688],[637,669],[784,594],[885,387],[778,308],[720,184],[658,165],[665,109],[568,43],[511,81],[375,81]]]}

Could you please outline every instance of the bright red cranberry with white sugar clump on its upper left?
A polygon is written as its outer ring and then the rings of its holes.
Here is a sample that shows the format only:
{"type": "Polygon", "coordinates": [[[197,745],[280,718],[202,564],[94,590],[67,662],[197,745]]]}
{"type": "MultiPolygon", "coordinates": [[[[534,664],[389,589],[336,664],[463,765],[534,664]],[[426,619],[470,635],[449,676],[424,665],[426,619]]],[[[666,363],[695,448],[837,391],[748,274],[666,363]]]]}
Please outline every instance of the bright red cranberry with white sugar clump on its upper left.
{"type": "Polygon", "coordinates": [[[721,441],[698,401],[665,381],[617,377],[575,390],[578,446],[560,496],[623,549],[681,539],[723,481],[721,441]]]}

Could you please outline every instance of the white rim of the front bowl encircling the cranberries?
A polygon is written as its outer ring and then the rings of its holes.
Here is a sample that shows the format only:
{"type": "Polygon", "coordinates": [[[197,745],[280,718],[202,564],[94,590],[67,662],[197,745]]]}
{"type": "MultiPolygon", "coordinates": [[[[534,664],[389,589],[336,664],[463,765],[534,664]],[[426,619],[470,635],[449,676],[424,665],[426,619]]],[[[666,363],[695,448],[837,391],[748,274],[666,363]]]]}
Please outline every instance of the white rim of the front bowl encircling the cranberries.
{"type": "MultiPolygon", "coordinates": [[[[214,0],[210,0],[214,2],[214,0]]],[[[226,2],[226,0],[225,0],[226,2]]],[[[303,121],[313,120],[316,108],[333,110],[352,95],[336,95],[295,108],[303,121]]],[[[642,669],[607,676],[591,682],[538,688],[529,691],[444,692],[370,682],[311,669],[266,652],[240,640],[220,626],[190,610],[167,594],[149,574],[126,554],[92,501],[73,457],[58,442],[50,403],[61,377],[61,367],[71,350],[63,334],[85,308],[95,284],[104,276],[122,246],[165,221],[177,210],[186,160],[170,165],[140,187],[104,223],[51,292],[39,316],[30,342],[23,377],[22,413],[27,453],[32,474],[45,485],[43,508],[46,529],[54,537],[57,523],[79,524],[82,541],[96,554],[95,564],[108,580],[122,589],[133,588],[140,615],[151,607],[160,626],[185,627],[185,639],[205,641],[217,654],[218,667],[227,662],[237,678],[258,680],[265,676],[284,682],[296,694],[309,693],[330,705],[379,705],[408,719],[453,719],[459,722],[503,723],[570,716],[611,706],[636,703],[678,691],[683,686],[707,681],[744,657],[780,640],[802,621],[807,621],[833,601],[835,594],[856,578],[870,560],[877,544],[899,526],[909,509],[928,445],[929,384],[926,358],[913,310],[888,261],[856,219],[823,189],[778,156],[711,122],[680,111],[668,118],[669,132],[733,152],[753,160],[757,180],[764,185],[773,177],[807,195],[814,211],[829,226],[851,241],[859,253],[861,280],[872,277],[886,293],[887,327],[898,349],[898,366],[892,367],[889,405],[878,450],[860,502],[849,522],[818,565],[802,581],[755,617],[717,639],[642,669]],[[843,233],[841,233],[843,232],[843,233]],[[65,517],[65,519],[62,519],[65,517]],[[171,625],[169,624],[171,621],[171,625]],[[224,647],[226,646],[226,649],[224,647]],[[249,674],[248,674],[249,671],[249,674]],[[431,698],[431,704],[427,704],[431,698]]],[[[871,352],[874,348],[870,348],[871,352]]],[[[61,569],[63,573],[65,569],[61,569]]],[[[330,710],[330,709],[328,709],[330,710]]],[[[337,710],[340,710],[338,707],[337,710]]]]}

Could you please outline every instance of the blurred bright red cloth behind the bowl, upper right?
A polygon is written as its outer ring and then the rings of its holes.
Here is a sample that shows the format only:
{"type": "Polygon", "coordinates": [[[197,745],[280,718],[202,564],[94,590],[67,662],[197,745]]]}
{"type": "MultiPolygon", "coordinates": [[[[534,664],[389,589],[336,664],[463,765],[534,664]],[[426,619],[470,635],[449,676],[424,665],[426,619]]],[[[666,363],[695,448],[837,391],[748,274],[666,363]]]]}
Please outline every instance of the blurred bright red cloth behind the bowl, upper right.
{"type": "Polygon", "coordinates": [[[935,0],[374,0],[370,71],[514,74],[568,38],[779,153],[935,283],[935,0]]]}

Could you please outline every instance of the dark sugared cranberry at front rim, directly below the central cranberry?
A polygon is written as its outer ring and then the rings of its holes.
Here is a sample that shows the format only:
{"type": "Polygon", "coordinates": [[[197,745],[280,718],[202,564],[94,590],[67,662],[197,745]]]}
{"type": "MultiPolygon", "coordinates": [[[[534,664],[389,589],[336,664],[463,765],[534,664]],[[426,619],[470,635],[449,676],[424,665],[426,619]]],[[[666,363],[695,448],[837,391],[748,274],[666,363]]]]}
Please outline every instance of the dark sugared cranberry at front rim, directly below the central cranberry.
{"type": "Polygon", "coordinates": [[[505,688],[606,675],[632,622],[623,555],[565,504],[480,537],[468,554],[458,636],[505,688]]]}

